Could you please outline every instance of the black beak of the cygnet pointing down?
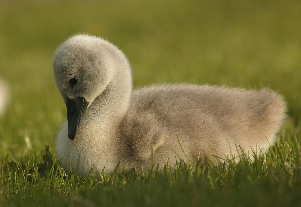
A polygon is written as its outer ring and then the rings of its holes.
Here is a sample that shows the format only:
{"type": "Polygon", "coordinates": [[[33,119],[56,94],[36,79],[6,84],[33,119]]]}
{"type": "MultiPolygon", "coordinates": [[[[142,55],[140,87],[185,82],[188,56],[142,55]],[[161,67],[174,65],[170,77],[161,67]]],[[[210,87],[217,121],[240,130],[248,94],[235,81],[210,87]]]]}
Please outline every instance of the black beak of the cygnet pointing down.
{"type": "Polygon", "coordinates": [[[67,120],[68,120],[68,137],[72,141],[79,128],[82,116],[85,114],[88,103],[84,98],[69,99],[67,98],[67,120]]]}

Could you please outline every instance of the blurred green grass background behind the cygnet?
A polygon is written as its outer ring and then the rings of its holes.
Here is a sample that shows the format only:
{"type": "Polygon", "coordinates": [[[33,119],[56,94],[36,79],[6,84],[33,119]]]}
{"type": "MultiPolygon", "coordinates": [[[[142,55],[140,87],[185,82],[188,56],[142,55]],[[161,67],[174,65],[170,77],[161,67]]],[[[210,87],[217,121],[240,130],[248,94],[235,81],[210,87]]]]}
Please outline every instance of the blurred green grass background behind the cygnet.
{"type": "Polygon", "coordinates": [[[288,125],[299,126],[300,11],[299,0],[0,0],[0,77],[11,92],[0,117],[0,157],[39,152],[45,144],[54,153],[67,116],[52,55],[78,32],[107,38],[123,50],[135,87],[270,87],[288,102],[288,125]]]}

